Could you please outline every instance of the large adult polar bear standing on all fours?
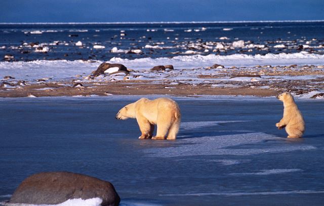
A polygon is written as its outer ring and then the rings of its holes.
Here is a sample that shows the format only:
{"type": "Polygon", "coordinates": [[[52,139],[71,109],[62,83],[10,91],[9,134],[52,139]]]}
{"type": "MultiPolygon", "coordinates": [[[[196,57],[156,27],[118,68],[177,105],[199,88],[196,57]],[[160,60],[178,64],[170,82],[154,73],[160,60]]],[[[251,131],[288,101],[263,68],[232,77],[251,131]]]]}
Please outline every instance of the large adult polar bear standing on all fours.
{"type": "Polygon", "coordinates": [[[139,139],[164,140],[168,134],[168,140],[175,140],[180,127],[181,113],[178,104],[172,99],[141,98],[121,108],[115,118],[136,118],[142,132],[139,139]],[[156,136],[152,137],[154,125],[157,125],[157,132],[156,136]]]}

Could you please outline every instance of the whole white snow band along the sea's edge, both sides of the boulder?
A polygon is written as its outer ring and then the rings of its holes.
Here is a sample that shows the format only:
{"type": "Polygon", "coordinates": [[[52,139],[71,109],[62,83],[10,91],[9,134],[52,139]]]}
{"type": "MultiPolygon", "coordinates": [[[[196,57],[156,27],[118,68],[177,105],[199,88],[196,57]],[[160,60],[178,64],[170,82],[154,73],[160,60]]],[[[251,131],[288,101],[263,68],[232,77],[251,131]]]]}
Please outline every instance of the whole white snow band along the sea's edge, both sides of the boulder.
{"type": "MultiPolygon", "coordinates": [[[[134,51],[133,52],[140,52],[134,51]]],[[[256,66],[256,65],[291,65],[291,64],[313,64],[322,65],[324,55],[309,54],[300,52],[294,54],[267,54],[267,55],[246,55],[234,54],[227,56],[220,55],[191,55],[176,56],[173,58],[138,58],[134,60],[111,58],[109,63],[120,63],[126,67],[138,71],[149,70],[156,65],[172,64],[177,69],[191,69],[199,67],[212,66],[215,63],[222,64],[226,67],[230,66],[256,66]]],[[[70,78],[77,74],[89,75],[93,70],[97,69],[100,61],[90,63],[88,61],[75,60],[37,60],[30,62],[0,62],[0,77],[13,76],[21,80],[34,80],[38,78],[51,77],[53,79],[70,78]]]]}

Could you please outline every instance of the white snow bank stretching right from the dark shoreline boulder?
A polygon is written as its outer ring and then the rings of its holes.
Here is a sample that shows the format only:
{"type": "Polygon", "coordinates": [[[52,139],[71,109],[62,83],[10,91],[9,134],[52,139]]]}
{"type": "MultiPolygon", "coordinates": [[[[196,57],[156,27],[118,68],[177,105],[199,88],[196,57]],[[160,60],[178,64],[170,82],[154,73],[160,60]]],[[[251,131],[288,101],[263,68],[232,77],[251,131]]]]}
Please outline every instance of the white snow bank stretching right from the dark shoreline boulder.
{"type": "Polygon", "coordinates": [[[266,54],[266,55],[247,55],[247,54],[233,54],[233,55],[191,55],[191,56],[176,56],[173,58],[138,58],[134,60],[111,58],[110,63],[120,63],[132,69],[149,69],[156,65],[172,64],[175,69],[183,68],[198,68],[207,67],[217,64],[224,66],[256,66],[256,65],[292,65],[292,64],[313,64],[322,65],[324,62],[324,55],[309,54],[307,52],[293,53],[293,54],[266,54]]]}

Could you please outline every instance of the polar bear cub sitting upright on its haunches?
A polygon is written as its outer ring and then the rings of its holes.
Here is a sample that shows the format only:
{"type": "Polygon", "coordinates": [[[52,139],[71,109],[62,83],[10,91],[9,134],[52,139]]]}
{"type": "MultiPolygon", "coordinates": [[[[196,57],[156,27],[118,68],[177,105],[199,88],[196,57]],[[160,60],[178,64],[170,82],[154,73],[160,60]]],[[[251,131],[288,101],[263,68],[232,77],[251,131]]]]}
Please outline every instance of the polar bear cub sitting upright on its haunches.
{"type": "Polygon", "coordinates": [[[288,138],[302,137],[305,131],[305,123],[302,114],[300,113],[294,97],[289,93],[282,93],[277,98],[284,102],[284,117],[275,124],[281,130],[286,127],[288,138]]]}

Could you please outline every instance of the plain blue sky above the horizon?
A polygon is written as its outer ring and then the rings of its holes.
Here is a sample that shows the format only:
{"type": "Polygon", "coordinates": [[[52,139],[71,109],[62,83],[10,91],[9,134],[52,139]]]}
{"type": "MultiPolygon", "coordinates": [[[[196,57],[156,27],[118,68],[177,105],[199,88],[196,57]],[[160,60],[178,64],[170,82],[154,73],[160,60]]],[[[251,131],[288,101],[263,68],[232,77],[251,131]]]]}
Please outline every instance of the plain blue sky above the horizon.
{"type": "Polygon", "coordinates": [[[323,19],[324,0],[0,0],[0,22],[323,19]]]}

